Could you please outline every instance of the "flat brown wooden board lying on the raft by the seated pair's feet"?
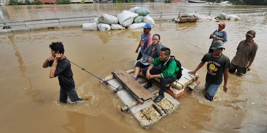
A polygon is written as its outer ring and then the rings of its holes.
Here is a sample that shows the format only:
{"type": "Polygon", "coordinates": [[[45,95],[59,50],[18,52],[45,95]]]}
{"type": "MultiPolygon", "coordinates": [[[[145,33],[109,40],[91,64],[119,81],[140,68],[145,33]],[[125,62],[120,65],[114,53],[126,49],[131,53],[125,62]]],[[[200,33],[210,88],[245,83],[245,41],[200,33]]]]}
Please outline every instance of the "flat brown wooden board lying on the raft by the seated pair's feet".
{"type": "Polygon", "coordinates": [[[154,97],[152,93],[146,90],[143,86],[141,86],[134,78],[127,73],[125,70],[119,69],[112,72],[112,74],[121,81],[124,86],[129,88],[134,95],[141,100],[149,100],[154,97]]]}

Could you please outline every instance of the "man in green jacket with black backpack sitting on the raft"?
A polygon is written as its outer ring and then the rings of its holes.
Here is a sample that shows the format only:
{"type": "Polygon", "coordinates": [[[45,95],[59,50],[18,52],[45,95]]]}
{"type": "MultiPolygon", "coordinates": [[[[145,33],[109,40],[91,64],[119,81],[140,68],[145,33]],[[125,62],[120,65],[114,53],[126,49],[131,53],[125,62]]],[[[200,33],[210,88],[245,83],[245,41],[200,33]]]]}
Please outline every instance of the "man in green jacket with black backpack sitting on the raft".
{"type": "Polygon", "coordinates": [[[142,70],[142,74],[148,79],[144,88],[147,89],[152,87],[152,83],[150,79],[159,78],[160,79],[160,92],[158,97],[155,98],[154,102],[159,102],[164,98],[164,92],[166,90],[166,86],[170,83],[173,83],[177,78],[177,72],[179,71],[179,67],[176,64],[175,60],[172,60],[170,63],[171,50],[167,47],[163,47],[160,51],[160,57],[156,58],[150,66],[144,68],[142,70]],[[158,66],[161,67],[158,67],[158,66]]]}

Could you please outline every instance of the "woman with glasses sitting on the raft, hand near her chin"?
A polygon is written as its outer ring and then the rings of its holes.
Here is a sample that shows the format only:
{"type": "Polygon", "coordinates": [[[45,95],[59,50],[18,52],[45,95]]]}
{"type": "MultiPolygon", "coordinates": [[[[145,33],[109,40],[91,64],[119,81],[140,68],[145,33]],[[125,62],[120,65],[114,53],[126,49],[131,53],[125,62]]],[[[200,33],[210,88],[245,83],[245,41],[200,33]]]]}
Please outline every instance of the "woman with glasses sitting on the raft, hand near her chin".
{"type": "MultiPolygon", "coordinates": [[[[160,43],[160,35],[154,34],[152,37],[152,44],[147,46],[143,52],[142,58],[136,63],[133,78],[137,80],[138,75],[141,74],[141,68],[148,67],[154,59],[160,56],[161,48],[165,47],[160,43]]],[[[142,75],[142,74],[141,74],[142,75]]]]}

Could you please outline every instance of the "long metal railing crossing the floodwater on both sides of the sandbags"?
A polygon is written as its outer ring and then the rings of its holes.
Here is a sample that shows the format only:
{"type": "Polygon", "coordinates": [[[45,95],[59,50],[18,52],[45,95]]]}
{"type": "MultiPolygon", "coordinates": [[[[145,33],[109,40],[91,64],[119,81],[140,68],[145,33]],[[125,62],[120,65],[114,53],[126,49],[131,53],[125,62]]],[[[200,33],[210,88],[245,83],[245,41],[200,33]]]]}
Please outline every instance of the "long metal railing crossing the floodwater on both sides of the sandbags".
{"type": "MultiPolygon", "coordinates": [[[[205,10],[205,11],[177,11],[177,12],[155,12],[150,13],[153,19],[160,20],[166,16],[175,16],[182,14],[202,14],[202,15],[218,15],[220,13],[225,14],[256,14],[265,15],[267,12],[267,8],[258,8],[258,9],[232,9],[232,10],[205,10]]],[[[114,15],[116,16],[116,15],[114,15]]],[[[41,25],[41,24],[57,24],[56,26],[62,26],[62,23],[67,22],[82,22],[89,21],[91,22],[95,18],[99,16],[81,16],[81,17],[67,17],[67,18],[50,18],[50,19],[35,19],[35,20],[23,20],[23,21],[10,21],[10,22],[0,22],[0,27],[15,27],[15,26],[24,26],[27,29],[29,25],[41,25]],[[5,25],[4,25],[5,24],[5,25]]],[[[53,25],[55,26],[55,25],[53,25]]]]}

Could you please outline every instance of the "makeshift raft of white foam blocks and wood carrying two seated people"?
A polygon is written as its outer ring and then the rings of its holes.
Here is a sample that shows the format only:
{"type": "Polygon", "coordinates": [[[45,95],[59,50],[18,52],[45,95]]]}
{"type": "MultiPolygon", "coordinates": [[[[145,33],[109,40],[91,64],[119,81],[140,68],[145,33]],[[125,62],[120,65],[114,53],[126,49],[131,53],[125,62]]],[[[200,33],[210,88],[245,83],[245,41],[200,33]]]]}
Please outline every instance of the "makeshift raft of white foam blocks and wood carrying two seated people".
{"type": "MultiPolygon", "coordinates": [[[[109,84],[111,84],[112,86],[114,86],[116,88],[120,86],[122,88],[119,91],[117,91],[115,88],[112,88],[109,86],[114,92],[117,92],[116,94],[125,104],[125,106],[123,106],[121,108],[121,110],[124,111],[123,108],[126,107],[127,110],[129,112],[131,112],[134,115],[134,117],[137,119],[140,126],[147,129],[147,128],[151,127],[154,123],[158,122],[161,118],[174,112],[177,109],[177,107],[180,105],[180,103],[176,100],[176,99],[178,99],[176,97],[179,96],[179,98],[180,98],[181,96],[185,95],[190,89],[187,86],[191,85],[192,87],[194,87],[196,85],[195,81],[197,80],[198,76],[197,75],[190,75],[187,73],[188,71],[189,71],[188,69],[183,68],[182,77],[178,81],[175,81],[174,83],[170,84],[170,86],[167,88],[166,92],[164,93],[165,98],[158,103],[153,102],[154,98],[149,98],[148,100],[144,100],[143,104],[140,104],[140,102],[138,102],[134,98],[133,91],[136,91],[135,89],[143,90],[144,88],[142,86],[146,84],[144,77],[138,77],[137,81],[135,81],[134,78],[130,76],[130,75],[134,75],[134,73],[133,73],[134,69],[127,70],[127,72],[124,70],[118,70],[118,71],[112,72],[113,75],[114,75],[114,73],[118,73],[118,74],[123,73],[123,75],[127,75],[126,76],[127,78],[125,78],[125,79],[124,79],[124,76],[120,77],[120,79],[117,79],[118,77],[114,78],[114,77],[116,77],[116,75],[115,76],[112,76],[112,75],[107,76],[105,79],[108,79],[107,82],[109,84]],[[192,78],[189,78],[188,76],[192,77],[192,78]],[[180,80],[185,82],[185,83],[180,82],[180,80]],[[134,82],[134,83],[132,83],[132,82],[134,82]],[[136,85],[137,88],[133,89],[132,87],[128,86],[128,83],[130,83],[130,84],[136,84],[137,83],[139,85],[136,85]],[[178,86],[175,86],[177,84],[178,84],[178,86]],[[195,85],[193,85],[193,84],[195,84],[195,85]],[[132,88],[133,91],[132,91],[132,89],[131,90],[126,89],[125,88],[126,86],[132,88]],[[174,87],[172,87],[172,86],[174,86],[174,87]],[[174,90],[175,93],[172,90],[174,90]],[[177,94],[176,90],[179,91],[179,94],[177,94]],[[187,91],[187,92],[185,93],[185,91],[187,91]],[[168,94],[167,92],[170,93],[171,95],[168,94]],[[182,95],[180,95],[180,94],[182,94],[182,95]],[[153,106],[156,106],[156,107],[153,107],[153,106]]],[[[150,94],[153,94],[153,95],[156,94],[155,97],[158,95],[158,92],[159,92],[159,82],[157,80],[158,79],[153,80],[152,87],[147,89],[147,91],[150,94]]],[[[137,94],[137,95],[139,96],[139,94],[137,94]]],[[[139,98],[141,98],[141,97],[139,97],[139,98]]]]}

